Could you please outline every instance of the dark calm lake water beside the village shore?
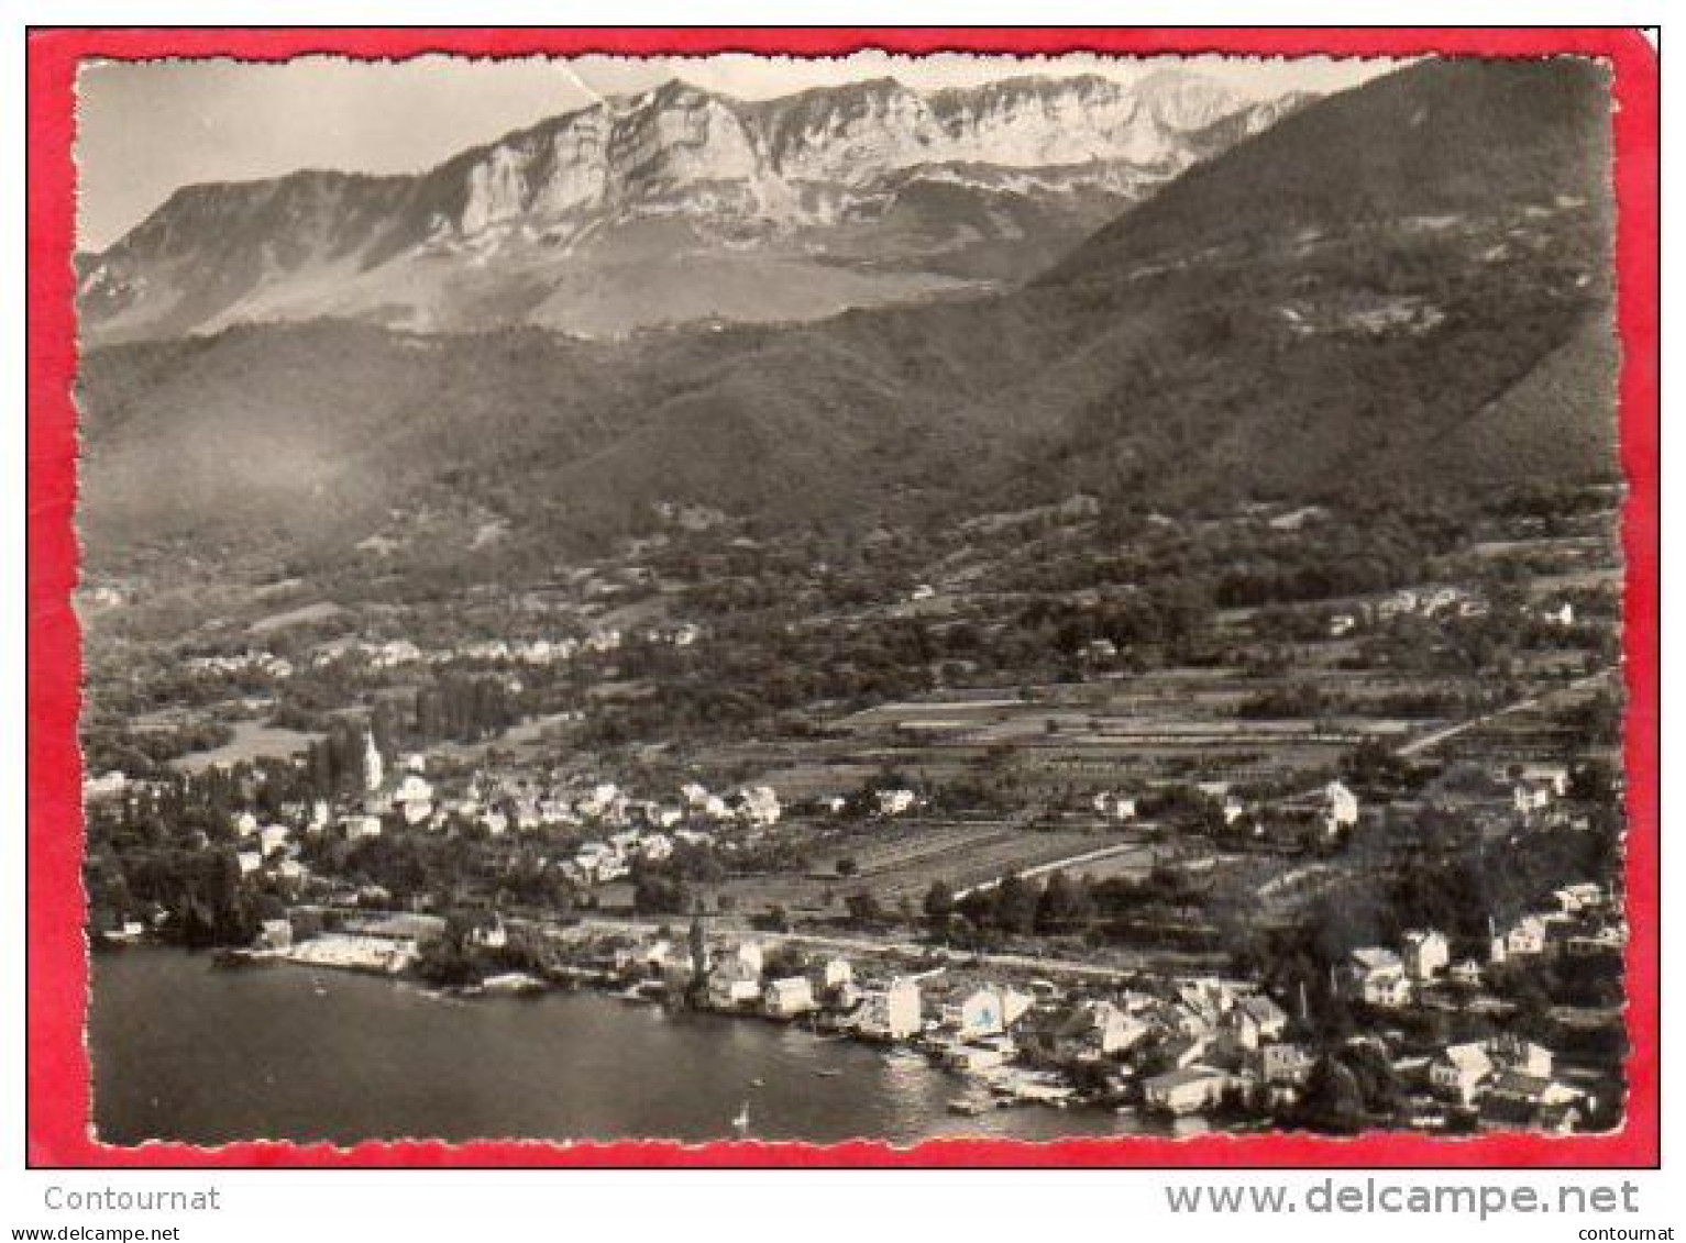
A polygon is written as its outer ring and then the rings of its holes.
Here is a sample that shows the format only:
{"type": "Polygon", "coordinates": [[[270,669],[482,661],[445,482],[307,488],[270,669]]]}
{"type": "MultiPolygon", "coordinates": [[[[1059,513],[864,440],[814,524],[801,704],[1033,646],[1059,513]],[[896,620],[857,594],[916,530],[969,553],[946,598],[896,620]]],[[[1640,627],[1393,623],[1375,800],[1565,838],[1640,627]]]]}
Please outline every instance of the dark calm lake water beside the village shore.
{"type": "Polygon", "coordinates": [[[93,962],[108,1144],[732,1137],[912,1144],[1141,1130],[1098,1108],[948,1112],[964,1083],[845,1039],[599,992],[443,999],[391,980],[132,948],[93,962]],[[821,1075],[821,1071],[838,1071],[821,1075]],[[759,1083],[757,1083],[759,1080],[759,1083]]]}

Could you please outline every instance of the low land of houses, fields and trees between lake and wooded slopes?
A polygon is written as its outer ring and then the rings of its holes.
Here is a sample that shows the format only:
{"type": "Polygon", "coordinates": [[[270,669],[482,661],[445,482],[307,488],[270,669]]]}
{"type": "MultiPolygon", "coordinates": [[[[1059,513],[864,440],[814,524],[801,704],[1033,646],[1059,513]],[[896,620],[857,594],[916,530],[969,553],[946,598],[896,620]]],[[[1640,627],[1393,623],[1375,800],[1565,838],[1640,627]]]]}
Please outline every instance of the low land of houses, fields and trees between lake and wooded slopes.
{"type": "Polygon", "coordinates": [[[791,1024],[956,1115],[1607,1128],[1608,504],[1379,586],[1315,507],[1150,517],[1126,564],[1076,500],[848,579],[720,515],[443,613],[282,579],[167,643],[99,584],[135,637],[94,680],[169,707],[88,734],[93,940],[791,1024]],[[1214,541],[1322,586],[1202,601],[1214,541]]]}

